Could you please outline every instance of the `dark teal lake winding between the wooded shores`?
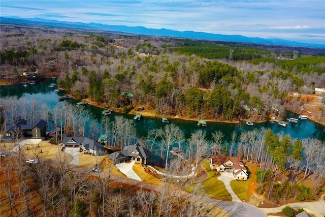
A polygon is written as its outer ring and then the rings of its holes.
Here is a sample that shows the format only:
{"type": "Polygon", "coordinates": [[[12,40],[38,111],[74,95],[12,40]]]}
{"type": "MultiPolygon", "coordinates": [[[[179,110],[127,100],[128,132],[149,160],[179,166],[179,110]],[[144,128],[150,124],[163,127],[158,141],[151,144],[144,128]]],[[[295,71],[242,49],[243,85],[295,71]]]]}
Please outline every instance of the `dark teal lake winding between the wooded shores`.
{"type": "MultiPolygon", "coordinates": [[[[55,83],[55,81],[50,79],[38,82],[35,85],[19,84],[15,86],[0,86],[0,96],[1,98],[17,96],[18,98],[37,99],[41,103],[45,103],[53,108],[57,103],[61,103],[58,102],[57,98],[58,96],[64,95],[64,93],[55,93],[53,88],[49,87],[50,83],[55,83]]],[[[77,101],[73,99],[69,99],[68,102],[73,104],[77,103],[77,101]]],[[[103,116],[101,111],[103,109],[94,106],[87,106],[87,109],[89,109],[91,114],[94,116],[93,120],[100,125],[100,120],[103,116]]],[[[112,121],[116,116],[123,116],[128,119],[133,119],[134,117],[134,115],[131,114],[120,114],[114,112],[108,116],[112,121]]],[[[288,117],[298,118],[298,115],[288,112],[288,117]]],[[[274,133],[283,132],[284,135],[289,134],[292,138],[304,139],[310,137],[325,141],[325,132],[323,131],[324,126],[310,120],[299,120],[298,123],[289,123],[287,128],[283,128],[274,122],[254,123],[254,126],[248,126],[244,121],[239,123],[208,122],[207,127],[197,126],[197,121],[170,119],[170,122],[177,125],[184,132],[186,139],[190,137],[191,133],[203,129],[206,132],[207,138],[210,140],[213,132],[221,131],[224,134],[223,139],[226,142],[230,142],[231,134],[234,131],[239,135],[243,131],[265,127],[271,129],[274,133]]],[[[159,129],[165,126],[165,124],[161,122],[160,118],[149,117],[144,117],[140,121],[135,121],[134,125],[138,138],[147,136],[148,132],[152,129],[159,129]]],[[[85,136],[88,136],[88,130],[85,131],[85,136]]],[[[100,132],[99,135],[96,136],[99,137],[100,132]]]]}

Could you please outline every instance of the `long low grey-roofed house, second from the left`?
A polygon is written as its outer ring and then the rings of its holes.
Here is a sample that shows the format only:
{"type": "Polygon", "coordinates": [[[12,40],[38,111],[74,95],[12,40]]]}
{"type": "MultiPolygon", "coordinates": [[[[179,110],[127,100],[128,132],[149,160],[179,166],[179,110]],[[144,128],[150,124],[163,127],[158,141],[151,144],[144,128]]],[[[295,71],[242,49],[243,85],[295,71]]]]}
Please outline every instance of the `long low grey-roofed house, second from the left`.
{"type": "Polygon", "coordinates": [[[64,148],[80,148],[95,156],[104,152],[104,146],[101,143],[87,137],[63,137],[62,144],[64,148]]]}

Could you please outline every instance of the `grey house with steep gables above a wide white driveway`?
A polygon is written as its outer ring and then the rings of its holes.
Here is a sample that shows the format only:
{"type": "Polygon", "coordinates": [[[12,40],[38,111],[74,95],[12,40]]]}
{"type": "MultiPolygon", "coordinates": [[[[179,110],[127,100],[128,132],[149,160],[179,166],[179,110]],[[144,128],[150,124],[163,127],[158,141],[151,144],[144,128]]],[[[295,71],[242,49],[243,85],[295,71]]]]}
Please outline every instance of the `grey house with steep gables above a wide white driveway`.
{"type": "Polygon", "coordinates": [[[121,151],[115,151],[109,154],[109,159],[114,164],[135,160],[138,164],[147,164],[150,158],[150,151],[142,147],[138,142],[134,145],[128,145],[121,151]]]}

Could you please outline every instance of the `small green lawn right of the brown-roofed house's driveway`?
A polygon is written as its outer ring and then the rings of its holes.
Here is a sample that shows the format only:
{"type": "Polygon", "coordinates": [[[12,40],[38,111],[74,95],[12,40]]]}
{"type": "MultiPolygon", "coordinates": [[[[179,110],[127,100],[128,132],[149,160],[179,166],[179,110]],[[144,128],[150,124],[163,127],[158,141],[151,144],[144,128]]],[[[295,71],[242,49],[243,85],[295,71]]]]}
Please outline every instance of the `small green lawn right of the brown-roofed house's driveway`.
{"type": "MultiPolygon", "coordinates": [[[[248,170],[251,171],[251,168],[248,167],[248,170]]],[[[238,181],[238,180],[232,180],[230,182],[230,186],[232,187],[235,194],[238,196],[239,199],[248,200],[249,199],[249,187],[252,182],[254,182],[255,176],[251,174],[250,178],[248,178],[246,181],[238,181]]]]}

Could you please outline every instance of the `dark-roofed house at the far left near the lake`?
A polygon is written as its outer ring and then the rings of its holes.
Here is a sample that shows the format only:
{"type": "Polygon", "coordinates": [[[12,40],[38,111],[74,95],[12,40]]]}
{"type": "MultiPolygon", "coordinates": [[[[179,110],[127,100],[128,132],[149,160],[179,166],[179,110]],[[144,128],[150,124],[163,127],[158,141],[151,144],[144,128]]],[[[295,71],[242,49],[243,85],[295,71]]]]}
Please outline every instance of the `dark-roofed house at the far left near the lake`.
{"type": "Polygon", "coordinates": [[[13,125],[7,126],[7,132],[1,138],[2,142],[11,142],[14,137],[19,138],[45,138],[47,135],[47,122],[41,119],[36,125],[27,125],[25,119],[21,119],[13,125]]]}

